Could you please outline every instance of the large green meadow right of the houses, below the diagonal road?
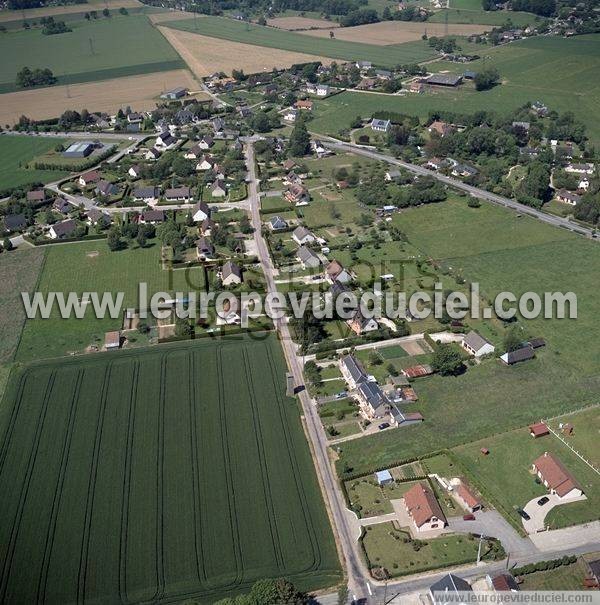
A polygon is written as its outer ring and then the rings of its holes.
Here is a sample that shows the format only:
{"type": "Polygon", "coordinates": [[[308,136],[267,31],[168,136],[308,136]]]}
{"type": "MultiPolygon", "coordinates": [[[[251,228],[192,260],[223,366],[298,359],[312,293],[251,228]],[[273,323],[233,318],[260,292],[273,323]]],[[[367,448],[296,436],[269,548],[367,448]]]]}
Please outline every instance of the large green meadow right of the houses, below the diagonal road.
{"type": "MultiPolygon", "coordinates": [[[[571,291],[577,295],[577,319],[520,322],[526,334],[547,342],[526,363],[505,367],[490,360],[461,376],[418,380],[419,402],[414,409],[426,421],[404,431],[401,441],[388,431],[344,444],[340,464],[347,462],[356,471],[495,434],[498,419],[503,430],[511,430],[597,402],[600,373],[595,360],[600,344],[595,325],[600,302],[594,276],[600,267],[600,249],[596,243],[525,217],[518,220],[526,222],[516,226],[515,214],[491,205],[483,204],[473,214],[466,201],[460,204],[446,202],[403,212],[396,225],[422,253],[461,271],[468,282],[479,283],[486,298],[503,291],[517,296],[526,291],[571,291]],[[474,233],[477,242],[470,239],[474,233]]],[[[486,336],[501,347],[502,327],[483,323],[486,336]]],[[[419,329],[418,324],[413,327],[419,329]]]]}

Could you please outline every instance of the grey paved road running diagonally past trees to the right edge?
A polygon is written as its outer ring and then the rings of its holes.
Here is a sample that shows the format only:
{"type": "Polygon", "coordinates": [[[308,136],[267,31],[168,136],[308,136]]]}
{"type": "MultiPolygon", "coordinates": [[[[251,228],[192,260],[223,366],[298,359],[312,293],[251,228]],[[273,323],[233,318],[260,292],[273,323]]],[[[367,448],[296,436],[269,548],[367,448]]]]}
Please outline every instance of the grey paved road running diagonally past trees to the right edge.
{"type": "Polygon", "coordinates": [[[360,147],[358,145],[353,145],[351,143],[344,143],[342,141],[338,141],[332,137],[320,137],[326,147],[329,147],[338,151],[348,151],[351,153],[356,153],[358,155],[362,155],[373,160],[378,160],[381,162],[387,162],[388,164],[393,164],[395,166],[400,166],[413,172],[414,174],[420,174],[425,176],[432,176],[433,178],[445,183],[446,185],[450,185],[455,187],[456,189],[460,189],[473,195],[474,197],[487,200],[493,204],[497,204],[499,206],[504,206],[505,208],[510,208],[519,212],[520,214],[526,214],[528,216],[532,216],[544,223],[548,223],[550,225],[554,225],[555,227],[561,227],[565,229],[569,229],[574,233],[578,233],[579,235],[584,235],[585,237],[592,237],[592,233],[594,233],[593,229],[588,229],[587,227],[582,227],[577,223],[569,221],[568,219],[561,218],[559,216],[553,216],[551,214],[546,214],[540,210],[536,210],[535,208],[531,208],[530,206],[525,206],[524,204],[520,204],[519,202],[515,202],[510,198],[504,197],[502,195],[496,195],[495,193],[490,193],[485,189],[479,189],[478,187],[473,187],[472,185],[467,185],[463,181],[458,179],[446,176],[444,174],[440,174],[439,172],[435,172],[433,170],[428,170],[427,168],[423,168],[422,166],[417,166],[416,164],[409,164],[408,162],[403,162],[402,160],[397,160],[396,158],[386,155],[384,153],[380,153],[378,151],[372,151],[371,149],[365,149],[364,147],[360,147]],[[329,140],[327,140],[329,139],[329,140]]]}

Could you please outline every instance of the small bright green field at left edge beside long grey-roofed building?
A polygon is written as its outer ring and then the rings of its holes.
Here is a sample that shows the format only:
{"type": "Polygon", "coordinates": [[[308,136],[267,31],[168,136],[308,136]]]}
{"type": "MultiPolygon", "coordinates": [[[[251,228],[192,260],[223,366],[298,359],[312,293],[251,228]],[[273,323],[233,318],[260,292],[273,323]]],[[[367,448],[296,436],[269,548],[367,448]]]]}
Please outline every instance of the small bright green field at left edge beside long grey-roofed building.
{"type": "MultiPolygon", "coordinates": [[[[0,38],[0,42],[2,38],[0,38]]],[[[65,139],[0,136],[0,192],[34,183],[49,183],[66,176],[66,172],[57,170],[33,170],[27,164],[65,139]]]]}

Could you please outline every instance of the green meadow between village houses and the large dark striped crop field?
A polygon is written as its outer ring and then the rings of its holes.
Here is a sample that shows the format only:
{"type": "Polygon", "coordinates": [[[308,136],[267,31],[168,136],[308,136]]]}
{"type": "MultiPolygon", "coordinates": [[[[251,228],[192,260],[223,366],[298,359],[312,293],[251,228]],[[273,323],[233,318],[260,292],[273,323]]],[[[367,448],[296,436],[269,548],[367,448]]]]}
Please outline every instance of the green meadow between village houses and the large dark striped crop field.
{"type": "MultiPolygon", "coordinates": [[[[138,284],[148,284],[149,297],[156,292],[188,292],[204,288],[201,268],[167,271],[159,262],[159,245],[111,252],[105,241],[50,246],[47,249],[39,291],[81,293],[123,292],[125,306],[138,308],[138,284]]],[[[104,333],[117,330],[122,320],[108,316],[98,319],[92,309],[84,319],[62,319],[53,312],[49,319],[30,319],[25,323],[17,350],[18,361],[57,357],[81,352],[88,345],[104,343],[104,333]]]]}

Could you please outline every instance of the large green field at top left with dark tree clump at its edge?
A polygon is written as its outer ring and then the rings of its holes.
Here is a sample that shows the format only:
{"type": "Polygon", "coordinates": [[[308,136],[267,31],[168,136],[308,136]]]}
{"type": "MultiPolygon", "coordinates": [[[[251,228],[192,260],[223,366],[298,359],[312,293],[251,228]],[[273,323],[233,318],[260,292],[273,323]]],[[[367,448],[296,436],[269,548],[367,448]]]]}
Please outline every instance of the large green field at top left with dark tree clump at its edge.
{"type": "MultiPolygon", "coordinates": [[[[23,67],[49,67],[59,84],[95,82],[185,67],[145,15],[70,23],[73,31],[44,36],[41,30],[0,38],[0,92],[16,90],[23,67]]],[[[90,108],[93,109],[93,108],[90,108]]]]}

